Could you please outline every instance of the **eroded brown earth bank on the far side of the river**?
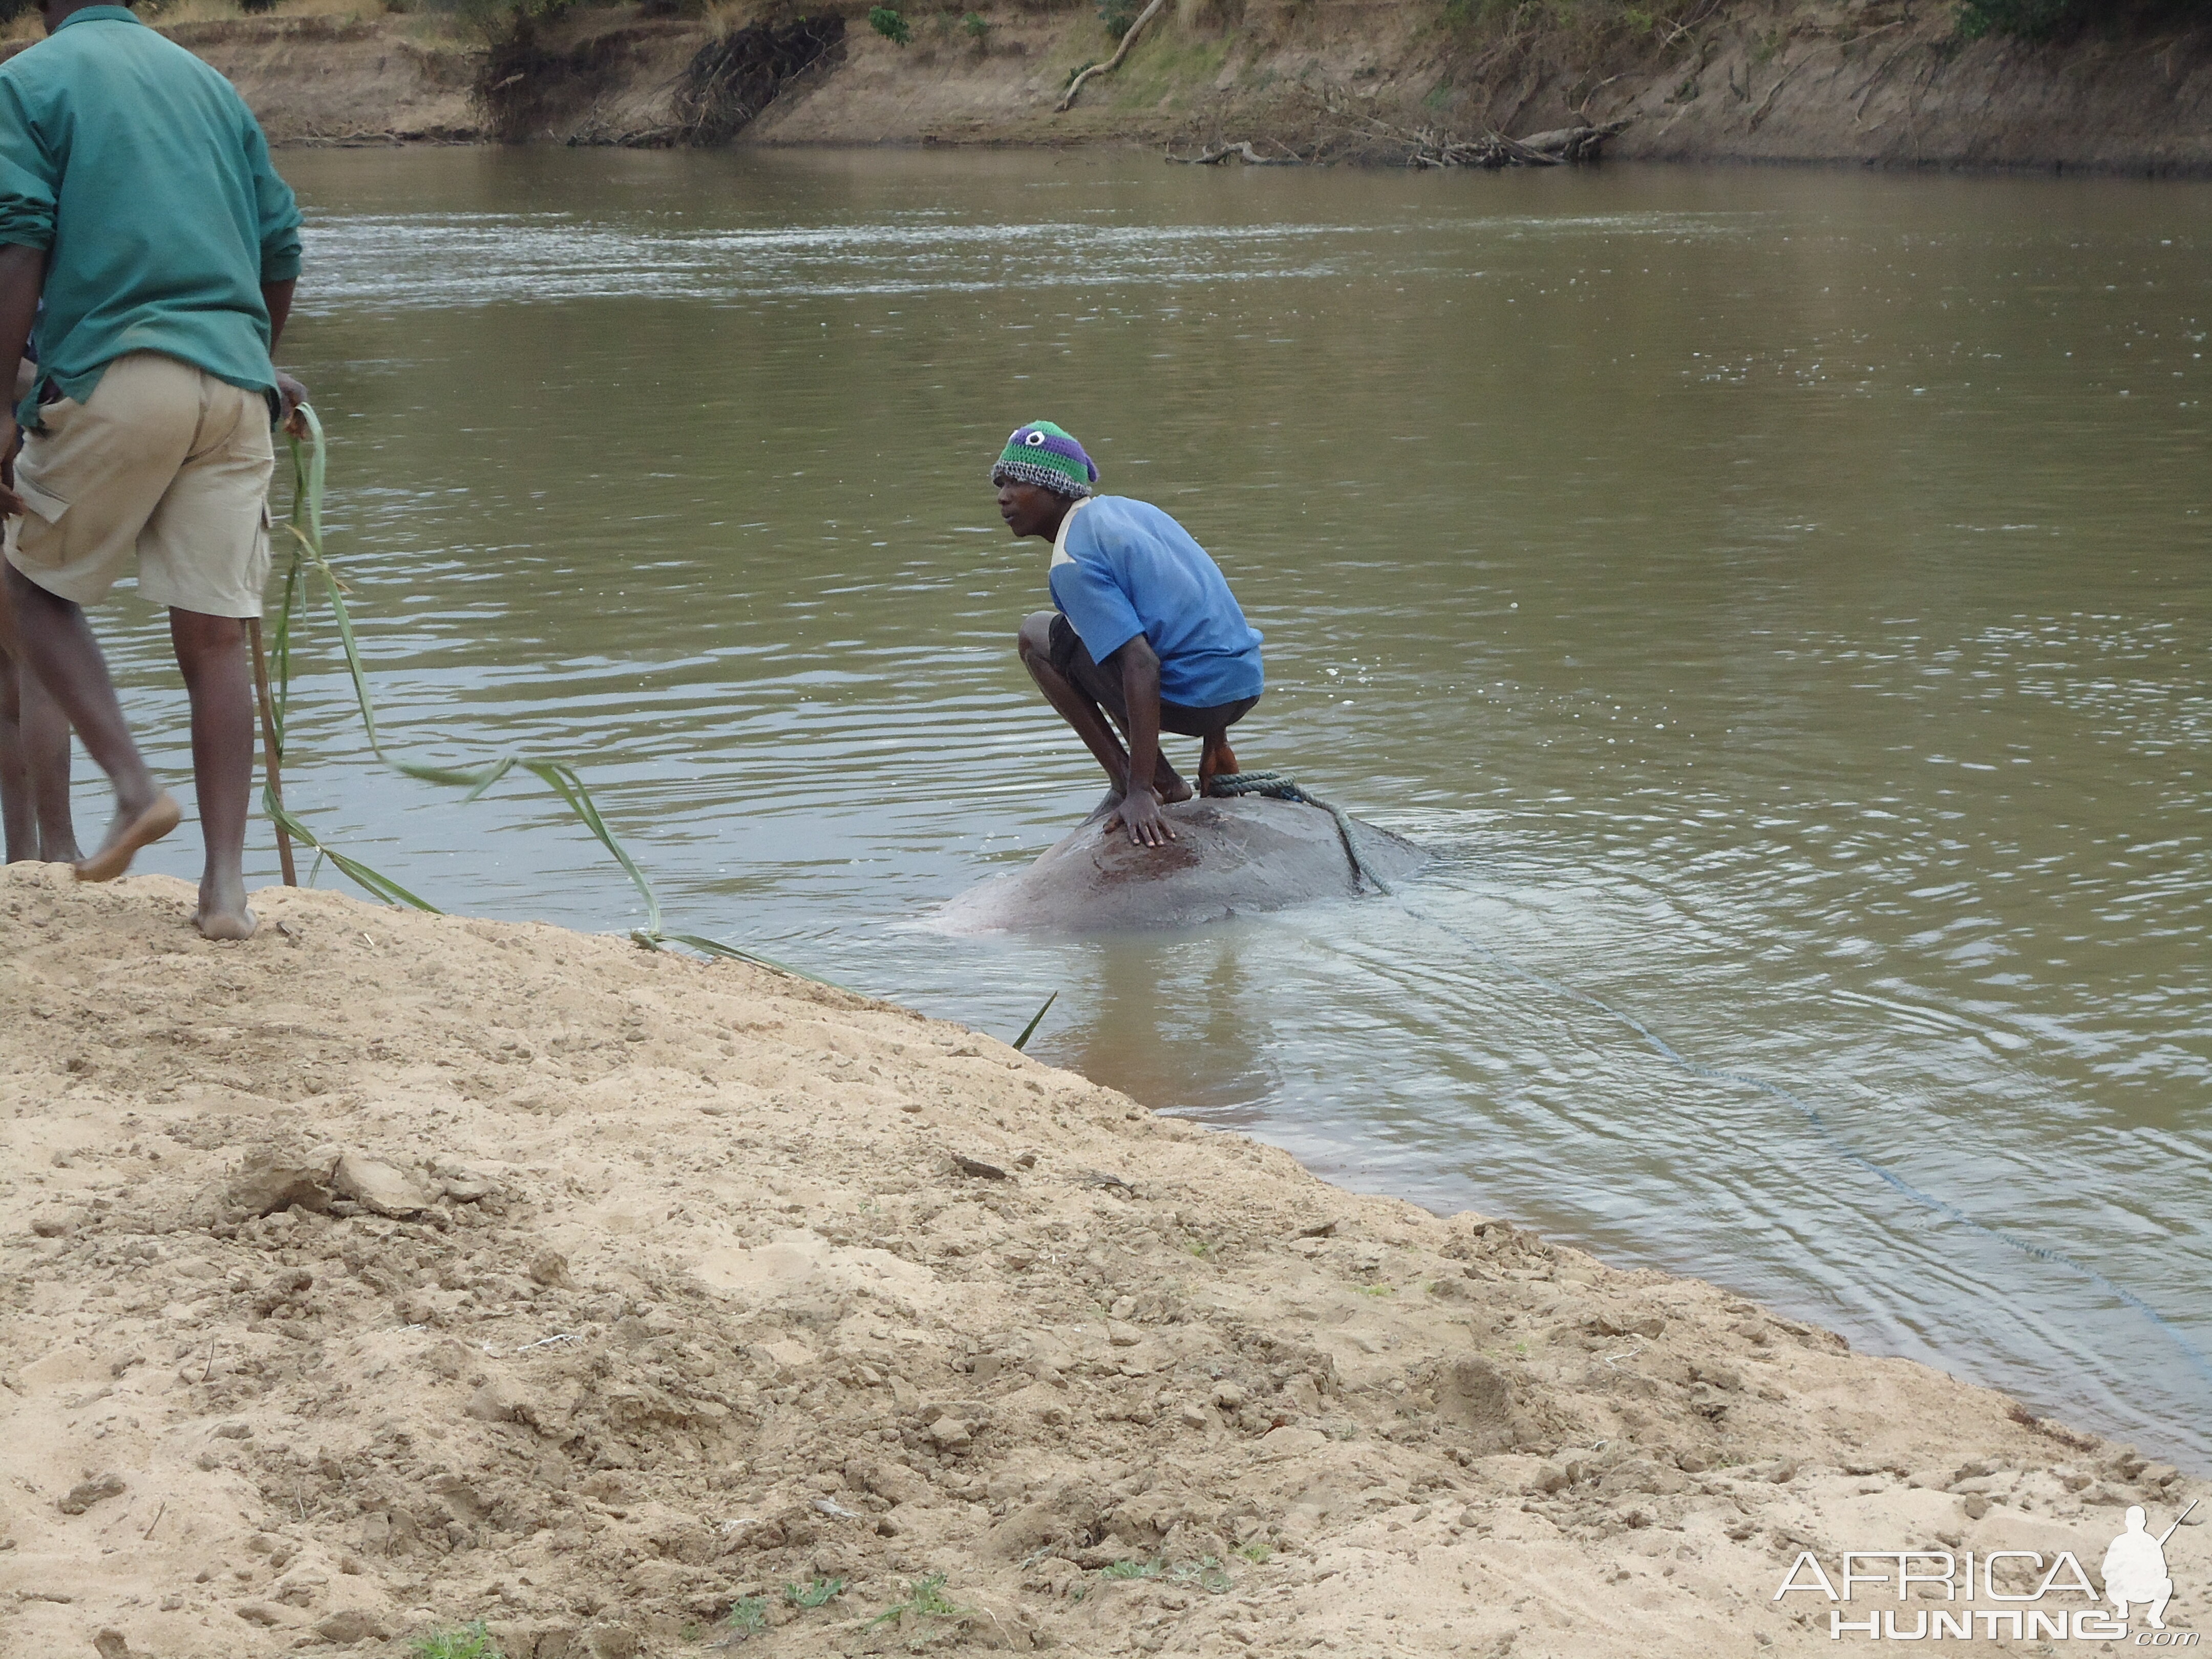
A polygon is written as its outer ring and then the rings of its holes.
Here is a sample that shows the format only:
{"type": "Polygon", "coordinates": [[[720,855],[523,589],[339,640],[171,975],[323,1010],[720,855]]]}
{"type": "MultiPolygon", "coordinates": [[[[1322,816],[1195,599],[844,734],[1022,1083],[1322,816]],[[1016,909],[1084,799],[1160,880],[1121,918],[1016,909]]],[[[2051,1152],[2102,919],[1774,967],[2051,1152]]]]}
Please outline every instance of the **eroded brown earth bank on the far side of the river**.
{"type": "Polygon", "coordinates": [[[907,44],[854,0],[803,20],[584,7],[495,44],[345,0],[166,27],[276,144],[1252,142],[1402,161],[1420,133],[1588,119],[1628,124],[1621,159],[2212,173],[2212,29],[1964,42],[1951,7],[1911,0],[1621,15],[1515,33],[1436,0],[1177,0],[1066,113],[1068,77],[1115,46],[1091,7],[916,9],[907,44]]]}

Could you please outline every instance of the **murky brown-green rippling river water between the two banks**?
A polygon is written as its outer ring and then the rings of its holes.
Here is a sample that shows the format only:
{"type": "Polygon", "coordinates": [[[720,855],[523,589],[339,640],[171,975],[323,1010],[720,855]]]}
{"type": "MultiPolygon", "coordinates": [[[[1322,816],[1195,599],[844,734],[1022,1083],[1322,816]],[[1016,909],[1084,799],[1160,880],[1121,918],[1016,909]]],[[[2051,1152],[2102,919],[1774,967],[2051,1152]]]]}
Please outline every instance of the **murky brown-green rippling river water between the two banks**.
{"type": "MultiPolygon", "coordinates": [[[[2212,1467],[2212,186],[283,164],[394,748],[575,759],[670,927],[1004,1037],[1057,989],[1035,1053],[1336,1181],[2212,1467]],[[920,925],[1099,792],[1011,650],[1031,416],[1217,553],[1243,761],[1427,843],[1402,902],[920,925]]],[[[104,626],[181,779],[157,619],[104,626]]],[[[538,785],[378,770],[338,661],[319,613],[321,834],[637,925],[538,785]]]]}

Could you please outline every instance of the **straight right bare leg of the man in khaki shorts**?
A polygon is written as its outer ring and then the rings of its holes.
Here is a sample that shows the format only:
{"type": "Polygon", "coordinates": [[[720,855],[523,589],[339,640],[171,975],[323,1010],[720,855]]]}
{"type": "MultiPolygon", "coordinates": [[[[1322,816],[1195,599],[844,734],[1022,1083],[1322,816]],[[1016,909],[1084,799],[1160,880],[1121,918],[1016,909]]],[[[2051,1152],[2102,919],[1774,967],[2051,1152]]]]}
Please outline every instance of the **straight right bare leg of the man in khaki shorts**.
{"type": "Polygon", "coordinates": [[[208,845],[192,920],[208,938],[252,938],[259,920],[246,907],[243,863],[246,803],[254,785],[254,684],[246,624],[170,608],[168,637],[192,697],[192,781],[199,834],[208,845]]]}

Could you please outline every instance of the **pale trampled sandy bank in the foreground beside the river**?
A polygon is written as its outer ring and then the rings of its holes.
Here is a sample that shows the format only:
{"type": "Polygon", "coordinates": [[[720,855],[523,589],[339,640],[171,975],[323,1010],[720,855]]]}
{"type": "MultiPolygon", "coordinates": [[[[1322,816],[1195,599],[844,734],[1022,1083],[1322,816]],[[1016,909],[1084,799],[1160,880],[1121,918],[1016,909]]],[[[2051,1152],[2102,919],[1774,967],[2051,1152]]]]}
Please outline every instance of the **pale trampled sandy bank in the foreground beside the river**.
{"type": "Polygon", "coordinates": [[[0,878],[0,1652],[1829,1652],[1803,1548],[2201,1491],[889,1004],[254,902],[0,878]]]}

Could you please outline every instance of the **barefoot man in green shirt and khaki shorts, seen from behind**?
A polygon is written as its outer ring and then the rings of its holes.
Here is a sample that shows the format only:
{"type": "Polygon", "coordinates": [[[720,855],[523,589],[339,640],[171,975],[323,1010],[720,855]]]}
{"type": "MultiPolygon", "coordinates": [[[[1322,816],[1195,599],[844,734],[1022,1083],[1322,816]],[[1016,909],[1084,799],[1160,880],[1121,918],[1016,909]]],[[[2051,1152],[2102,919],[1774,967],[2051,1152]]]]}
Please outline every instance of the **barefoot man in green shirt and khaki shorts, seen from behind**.
{"type": "Polygon", "coordinates": [[[248,938],[254,765],[246,622],[268,580],[270,416],[299,206],[237,91],[126,7],[46,0],[0,64],[0,363],[38,327],[38,385],[0,416],[7,584],[22,655],[115,785],[80,880],[177,827],[82,606],[137,562],[192,699],[206,869],[195,922],[248,938]],[[44,307],[40,305],[44,301],[44,307]]]}

